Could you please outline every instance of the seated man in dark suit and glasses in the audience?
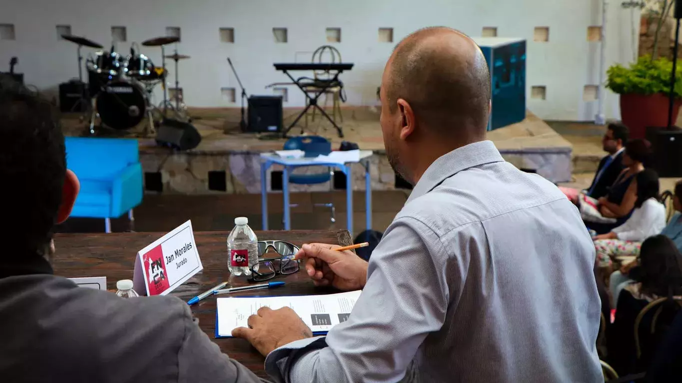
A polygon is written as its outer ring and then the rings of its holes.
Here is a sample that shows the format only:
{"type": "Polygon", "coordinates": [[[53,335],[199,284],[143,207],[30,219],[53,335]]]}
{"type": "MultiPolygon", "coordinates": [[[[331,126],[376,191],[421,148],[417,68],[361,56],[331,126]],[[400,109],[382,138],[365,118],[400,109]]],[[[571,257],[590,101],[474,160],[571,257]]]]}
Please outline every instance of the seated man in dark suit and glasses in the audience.
{"type": "Polygon", "coordinates": [[[602,137],[604,152],[608,155],[599,161],[597,173],[592,180],[592,184],[586,190],[576,190],[574,188],[559,187],[561,191],[573,203],[578,203],[579,195],[582,193],[588,197],[599,199],[608,193],[608,188],[616,181],[621,171],[623,171],[623,151],[627,142],[627,127],[621,123],[611,123],[606,127],[606,133],[602,137]]]}

